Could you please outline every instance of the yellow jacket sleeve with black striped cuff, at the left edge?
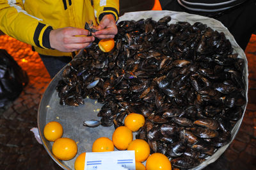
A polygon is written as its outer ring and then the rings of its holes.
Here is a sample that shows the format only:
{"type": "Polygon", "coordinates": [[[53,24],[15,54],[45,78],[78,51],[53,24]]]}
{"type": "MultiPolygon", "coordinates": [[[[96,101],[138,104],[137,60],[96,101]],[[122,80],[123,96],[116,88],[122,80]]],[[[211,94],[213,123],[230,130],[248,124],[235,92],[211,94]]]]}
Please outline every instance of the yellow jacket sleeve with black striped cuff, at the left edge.
{"type": "Polygon", "coordinates": [[[0,2],[0,29],[21,42],[49,48],[51,26],[29,15],[22,9],[22,4],[0,2]]]}

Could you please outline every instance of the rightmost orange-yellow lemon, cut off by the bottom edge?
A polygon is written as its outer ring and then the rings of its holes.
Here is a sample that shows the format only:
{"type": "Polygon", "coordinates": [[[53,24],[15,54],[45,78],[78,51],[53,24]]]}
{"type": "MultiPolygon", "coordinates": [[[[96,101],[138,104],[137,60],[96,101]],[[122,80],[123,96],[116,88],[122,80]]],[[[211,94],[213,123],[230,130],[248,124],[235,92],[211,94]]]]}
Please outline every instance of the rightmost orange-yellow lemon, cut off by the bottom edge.
{"type": "Polygon", "coordinates": [[[163,153],[153,153],[147,158],[147,170],[172,170],[170,160],[163,153]]]}

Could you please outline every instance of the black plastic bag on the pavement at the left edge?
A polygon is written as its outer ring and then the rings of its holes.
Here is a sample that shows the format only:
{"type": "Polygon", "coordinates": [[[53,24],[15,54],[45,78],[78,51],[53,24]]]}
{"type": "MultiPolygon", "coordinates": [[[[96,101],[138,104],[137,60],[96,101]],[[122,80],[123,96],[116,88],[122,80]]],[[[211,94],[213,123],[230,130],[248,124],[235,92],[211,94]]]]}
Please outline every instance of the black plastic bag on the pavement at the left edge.
{"type": "Polygon", "coordinates": [[[28,81],[27,73],[6,50],[0,49],[0,108],[19,97],[28,81]]]}

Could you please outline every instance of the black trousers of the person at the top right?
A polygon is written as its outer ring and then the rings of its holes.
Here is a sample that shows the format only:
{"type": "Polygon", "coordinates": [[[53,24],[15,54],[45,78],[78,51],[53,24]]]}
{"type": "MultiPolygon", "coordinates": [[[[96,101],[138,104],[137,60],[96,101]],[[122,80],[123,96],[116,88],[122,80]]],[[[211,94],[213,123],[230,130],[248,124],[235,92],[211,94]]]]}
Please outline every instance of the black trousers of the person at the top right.
{"type": "MultiPolygon", "coordinates": [[[[187,12],[219,20],[234,36],[238,45],[245,50],[252,33],[256,31],[256,1],[248,0],[234,8],[219,13],[193,12],[180,6],[177,0],[159,0],[163,10],[187,12]],[[170,2],[168,2],[170,1],[170,2]]],[[[206,0],[205,0],[206,1],[206,0]]]]}

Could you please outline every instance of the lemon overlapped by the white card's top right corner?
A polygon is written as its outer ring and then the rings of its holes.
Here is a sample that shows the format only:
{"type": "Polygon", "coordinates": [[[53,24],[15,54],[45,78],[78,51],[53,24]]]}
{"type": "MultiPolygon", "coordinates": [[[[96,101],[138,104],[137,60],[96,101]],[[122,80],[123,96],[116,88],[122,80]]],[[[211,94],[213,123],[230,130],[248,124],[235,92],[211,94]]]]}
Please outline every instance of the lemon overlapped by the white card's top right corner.
{"type": "Polygon", "coordinates": [[[144,162],[150,154],[150,147],[148,143],[142,139],[135,139],[132,141],[127,150],[135,151],[135,160],[138,162],[144,162]]]}

